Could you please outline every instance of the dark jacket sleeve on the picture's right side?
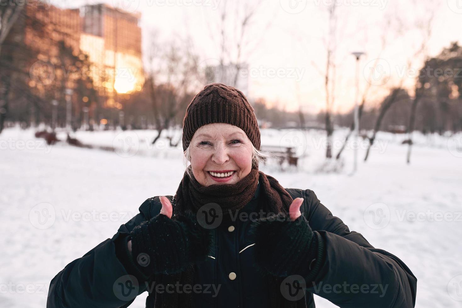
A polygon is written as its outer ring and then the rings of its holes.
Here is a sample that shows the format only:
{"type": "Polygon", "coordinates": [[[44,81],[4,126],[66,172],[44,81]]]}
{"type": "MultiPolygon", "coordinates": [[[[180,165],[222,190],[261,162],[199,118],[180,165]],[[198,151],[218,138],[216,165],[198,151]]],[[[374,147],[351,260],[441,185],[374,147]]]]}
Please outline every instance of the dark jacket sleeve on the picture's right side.
{"type": "Polygon", "coordinates": [[[395,255],[374,248],[360,233],[318,200],[312,190],[306,217],[323,243],[319,271],[307,281],[307,290],[341,308],[411,308],[415,306],[417,278],[395,255]]]}

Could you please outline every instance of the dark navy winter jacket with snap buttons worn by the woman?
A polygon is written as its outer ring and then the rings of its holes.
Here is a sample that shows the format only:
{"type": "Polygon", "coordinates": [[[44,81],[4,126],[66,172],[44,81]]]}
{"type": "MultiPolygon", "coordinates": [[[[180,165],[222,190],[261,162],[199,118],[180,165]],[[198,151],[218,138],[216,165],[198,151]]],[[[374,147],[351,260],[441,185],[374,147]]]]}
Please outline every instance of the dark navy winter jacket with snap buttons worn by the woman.
{"type": "MultiPolygon", "coordinates": [[[[414,307],[417,278],[398,257],[372,247],[360,233],[350,231],[312,190],[286,190],[294,199],[304,198],[302,214],[311,229],[319,232],[325,247],[325,260],[316,284],[305,289],[307,307],[315,307],[313,294],[342,308],[414,307]]],[[[259,191],[260,187],[240,212],[258,212],[259,191]]],[[[171,200],[172,196],[168,197],[171,200]]],[[[47,308],[125,308],[146,290],[146,307],[151,308],[156,294],[152,281],[137,280],[140,277],[128,262],[117,257],[116,250],[120,250],[122,237],[158,215],[161,207],[157,196],[147,199],[141,204],[140,213],[121,225],[114,237],[67,264],[51,280],[47,308]]],[[[251,219],[236,219],[214,229],[212,253],[195,268],[194,284],[201,286],[200,291],[193,292],[196,307],[269,306],[264,280],[255,267],[250,223],[251,219]]]]}

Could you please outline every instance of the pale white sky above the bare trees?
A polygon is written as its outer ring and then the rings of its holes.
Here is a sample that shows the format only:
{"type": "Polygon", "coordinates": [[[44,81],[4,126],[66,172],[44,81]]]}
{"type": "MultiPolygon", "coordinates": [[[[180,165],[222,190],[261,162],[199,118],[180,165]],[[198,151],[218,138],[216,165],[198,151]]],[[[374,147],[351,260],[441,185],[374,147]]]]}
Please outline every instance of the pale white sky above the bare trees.
{"type": "MultiPolygon", "coordinates": [[[[263,97],[270,104],[308,112],[325,107],[323,73],[328,37],[327,7],[333,0],[261,0],[250,21],[243,43],[242,59],[249,64],[249,96],[263,97]],[[275,74],[278,72],[278,74],[275,74]],[[272,74],[273,73],[273,74],[272,74]],[[276,76],[278,75],[278,76],[276,76]]],[[[377,70],[369,90],[369,106],[400,83],[412,89],[423,64],[423,53],[413,56],[422,44],[424,29],[433,14],[426,54],[436,56],[451,41],[462,43],[462,0],[336,0],[337,26],[334,111],[346,112],[354,104],[354,51],[366,54],[360,60],[360,93],[375,59],[377,70]],[[386,20],[391,19],[387,27],[386,20]],[[417,24],[422,26],[417,27],[417,24]],[[380,53],[381,41],[386,47],[380,53]],[[380,56],[379,56],[380,54],[380,56]],[[410,67],[406,64],[411,59],[410,67]],[[383,79],[380,79],[382,76],[383,79]]],[[[219,59],[218,20],[225,0],[55,0],[72,7],[106,2],[128,11],[141,12],[143,51],[149,51],[150,34],[157,30],[160,41],[189,36],[202,63],[219,59]]],[[[258,0],[227,1],[229,44],[236,46],[235,16],[258,0]]]]}

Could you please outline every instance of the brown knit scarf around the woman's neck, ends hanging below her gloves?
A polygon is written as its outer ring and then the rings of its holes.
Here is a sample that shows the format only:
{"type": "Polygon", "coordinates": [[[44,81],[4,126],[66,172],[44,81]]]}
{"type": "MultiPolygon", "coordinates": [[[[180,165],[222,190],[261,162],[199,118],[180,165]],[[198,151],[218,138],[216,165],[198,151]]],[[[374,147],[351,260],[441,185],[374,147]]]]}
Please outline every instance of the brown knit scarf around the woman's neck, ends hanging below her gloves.
{"type": "MultiPolygon", "coordinates": [[[[197,210],[207,203],[218,203],[223,209],[224,217],[227,213],[243,208],[255,195],[258,182],[260,182],[259,209],[265,213],[286,213],[292,203],[292,196],[279,184],[279,182],[265,173],[252,168],[250,173],[236,184],[214,184],[202,186],[192,176],[189,178],[185,172],[176,195],[173,199],[173,214],[184,211],[197,210]]],[[[282,252],[281,252],[282,253],[282,252]]],[[[194,266],[173,275],[156,275],[155,284],[168,285],[176,283],[193,284],[194,266]]],[[[286,300],[280,292],[280,284],[284,278],[266,275],[268,296],[273,308],[306,308],[305,298],[298,301],[286,300]]],[[[146,302],[146,304],[148,304],[146,302]]],[[[156,293],[154,308],[190,308],[193,307],[193,293],[156,293]]]]}

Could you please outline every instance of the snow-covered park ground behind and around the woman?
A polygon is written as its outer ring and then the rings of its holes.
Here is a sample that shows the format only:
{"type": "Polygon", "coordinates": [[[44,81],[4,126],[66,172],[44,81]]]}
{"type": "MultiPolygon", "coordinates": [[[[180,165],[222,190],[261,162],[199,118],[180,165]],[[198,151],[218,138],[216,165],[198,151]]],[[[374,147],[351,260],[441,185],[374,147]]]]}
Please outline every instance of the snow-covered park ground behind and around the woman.
{"type": "MultiPolygon", "coordinates": [[[[334,154],[345,134],[336,130],[334,154]]],[[[112,237],[147,198],[173,195],[182,178],[181,142],[169,148],[163,136],[153,147],[153,131],[72,136],[116,150],[49,147],[18,128],[0,135],[0,307],[45,307],[56,273],[112,237]]],[[[462,136],[415,136],[407,165],[405,136],[380,133],[366,163],[365,142],[358,144],[353,176],[354,144],[339,163],[323,165],[324,138],[316,130],[262,130],[263,145],[296,146],[300,160],[298,169],[275,162],[260,169],[286,188],[314,190],[350,230],[401,258],[418,279],[416,307],[462,307],[462,136]]],[[[146,295],[130,307],[144,308],[146,295]]]]}

